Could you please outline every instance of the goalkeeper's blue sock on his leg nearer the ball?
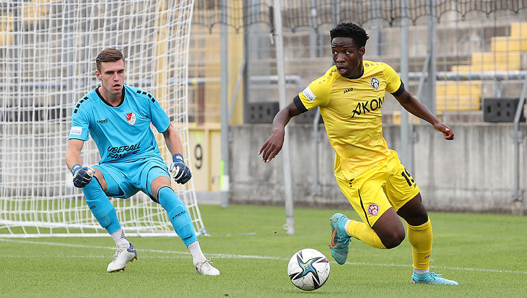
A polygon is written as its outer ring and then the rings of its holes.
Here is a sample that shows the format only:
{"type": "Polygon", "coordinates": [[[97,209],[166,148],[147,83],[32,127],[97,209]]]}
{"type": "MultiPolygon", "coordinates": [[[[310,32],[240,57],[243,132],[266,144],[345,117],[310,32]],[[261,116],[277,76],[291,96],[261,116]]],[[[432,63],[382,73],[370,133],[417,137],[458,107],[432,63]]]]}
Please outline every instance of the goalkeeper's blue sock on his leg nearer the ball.
{"type": "Polygon", "coordinates": [[[174,231],[178,233],[183,243],[187,247],[198,240],[196,233],[194,232],[194,226],[190,219],[189,210],[185,207],[185,204],[178,199],[176,193],[172,188],[163,186],[157,190],[157,200],[165,208],[168,214],[168,218],[174,227],[174,231]]]}

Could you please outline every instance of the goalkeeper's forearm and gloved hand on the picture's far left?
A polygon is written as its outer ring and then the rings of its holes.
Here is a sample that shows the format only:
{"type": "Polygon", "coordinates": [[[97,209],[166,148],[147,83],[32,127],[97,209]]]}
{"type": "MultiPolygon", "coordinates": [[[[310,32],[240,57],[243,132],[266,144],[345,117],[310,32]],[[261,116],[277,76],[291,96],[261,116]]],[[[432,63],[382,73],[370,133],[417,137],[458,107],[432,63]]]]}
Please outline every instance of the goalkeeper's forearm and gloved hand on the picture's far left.
{"type": "Polygon", "coordinates": [[[70,139],[68,142],[68,148],[66,149],[66,165],[73,174],[73,185],[78,188],[83,188],[86,184],[89,184],[91,177],[95,174],[95,171],[89,166],[81,166],[82,158],[80,157],[80,151],[84,145],[84,140],[70,139]]]}

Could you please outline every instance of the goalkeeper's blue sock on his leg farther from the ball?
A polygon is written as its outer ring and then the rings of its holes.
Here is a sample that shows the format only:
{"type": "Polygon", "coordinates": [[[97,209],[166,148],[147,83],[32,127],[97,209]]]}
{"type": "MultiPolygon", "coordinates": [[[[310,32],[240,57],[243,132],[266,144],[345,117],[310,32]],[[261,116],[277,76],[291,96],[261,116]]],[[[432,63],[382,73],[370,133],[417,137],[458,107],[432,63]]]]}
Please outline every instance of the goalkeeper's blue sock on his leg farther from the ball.
{"type": "Polygon", "coordinates": [[[82,188],[82,193],[84,193],[86,204],[88,204],[91,213],[101,227],[108,231],[108,234],[112,234],[121,228],[115,208],[113,208],[112,203],[102,191],[101,184],[99,184],[97,178],[93,177],[90,183],[82,188]]]}

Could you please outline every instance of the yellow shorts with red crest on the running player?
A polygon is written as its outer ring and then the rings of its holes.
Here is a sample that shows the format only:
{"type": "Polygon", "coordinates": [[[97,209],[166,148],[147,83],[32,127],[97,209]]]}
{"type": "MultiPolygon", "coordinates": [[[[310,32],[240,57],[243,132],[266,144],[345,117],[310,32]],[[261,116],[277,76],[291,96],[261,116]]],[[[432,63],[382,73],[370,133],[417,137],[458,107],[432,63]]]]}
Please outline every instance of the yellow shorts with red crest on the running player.
{"type": "Polygon", "coordinates": [[[350,181],[337,178],[338,186],[349,203],[370,227],[393,208],[396,212],[406,202],[419,194],[419,186],[406,171],[397,153],[390,150],[390,157],[350,181]]]}

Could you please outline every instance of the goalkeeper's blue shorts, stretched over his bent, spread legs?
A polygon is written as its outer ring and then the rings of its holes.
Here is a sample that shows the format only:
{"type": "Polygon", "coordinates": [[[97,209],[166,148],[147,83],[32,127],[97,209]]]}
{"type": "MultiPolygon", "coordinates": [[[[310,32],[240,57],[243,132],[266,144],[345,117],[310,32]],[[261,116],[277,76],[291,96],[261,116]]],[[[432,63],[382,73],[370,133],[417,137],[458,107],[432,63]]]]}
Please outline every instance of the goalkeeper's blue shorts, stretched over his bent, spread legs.
{"type": "Polygon", "coordinates": [[[101,171],[106,180],[106,195],[108,197],[125,198],[132,197],[139,190],[147,194],[150,199],[156,201],[152,196],[150,186],[156,177],[168,177],[167,165],[160,158],[144,158],[134,162],[110,162],[97,164],[93,168],[101,171]]]}

